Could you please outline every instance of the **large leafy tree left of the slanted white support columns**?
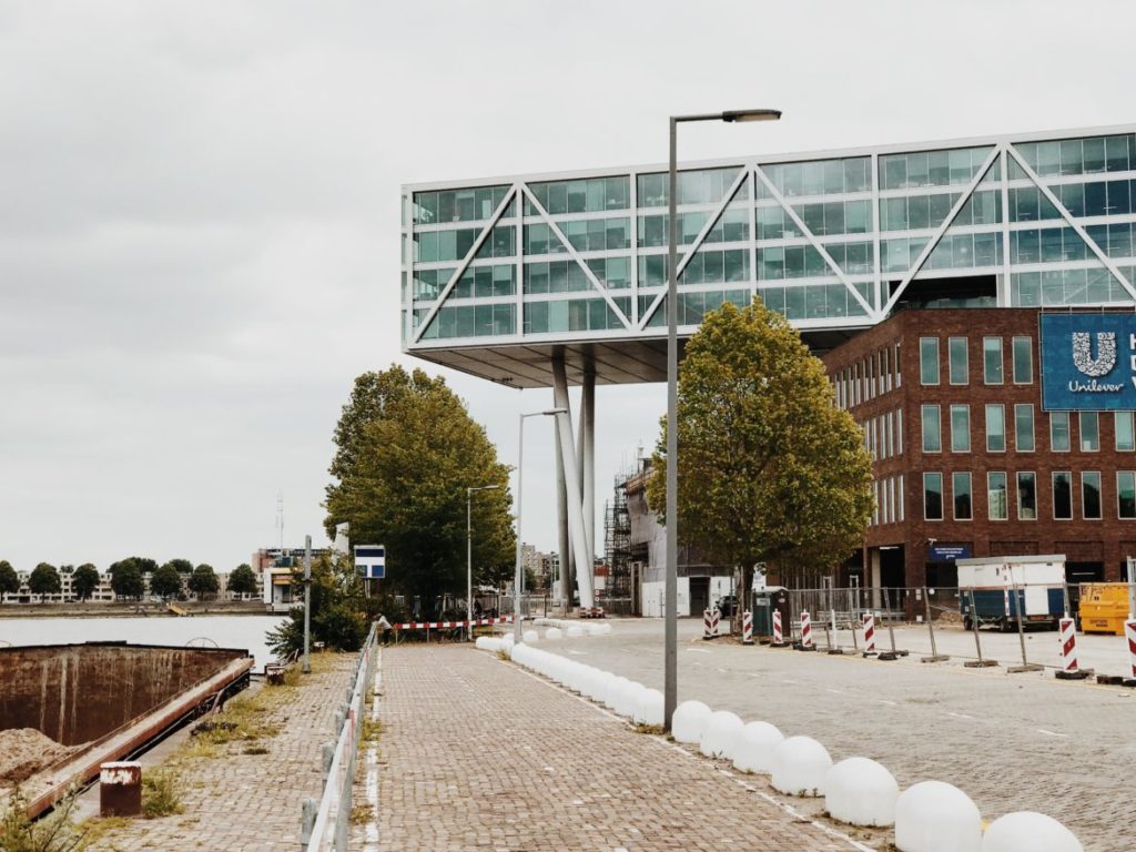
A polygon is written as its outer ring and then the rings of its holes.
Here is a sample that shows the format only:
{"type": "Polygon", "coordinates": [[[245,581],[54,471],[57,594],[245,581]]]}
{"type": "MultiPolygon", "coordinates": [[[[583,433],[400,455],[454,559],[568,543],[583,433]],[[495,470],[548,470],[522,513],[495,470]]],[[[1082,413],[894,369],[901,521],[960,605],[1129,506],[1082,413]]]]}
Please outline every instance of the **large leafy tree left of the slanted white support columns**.
{"type": "Polygon", "coordinates": [[[386,545],[384,591],[420,596],[427,613],[465,594],[469,486],[499,486],[473,501],[474,565],[512,563],[509,468],[444,379],[399,366],[359,376],[334,438],[325,525],[386,545]]]}

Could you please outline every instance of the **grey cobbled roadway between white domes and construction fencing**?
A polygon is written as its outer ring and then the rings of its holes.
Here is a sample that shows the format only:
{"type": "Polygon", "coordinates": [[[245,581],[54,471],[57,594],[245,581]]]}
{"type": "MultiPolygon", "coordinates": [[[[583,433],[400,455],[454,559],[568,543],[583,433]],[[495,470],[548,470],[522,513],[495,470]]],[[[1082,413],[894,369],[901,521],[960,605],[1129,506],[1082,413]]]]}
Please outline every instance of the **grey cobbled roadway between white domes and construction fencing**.
{"type": "MultiPolygon", "coordinates": [[[[607,636],[540,646],[661,688],[662,621],[612,626],[607,636]]],[[[746,721],[770,721],[786,736],[816,737],[834,760],[879,760],[901,788],[949,782],[987,819],[1047,813],[1069,826],[1086,852],[1136,849],[1128,785],[1136,761],[1133,690],[1058,682],[1052,671],[924,665],[914,653],[883,662],[703,642],[701,627],[679,623],[679,701],[699,699],[746,721]]]]}

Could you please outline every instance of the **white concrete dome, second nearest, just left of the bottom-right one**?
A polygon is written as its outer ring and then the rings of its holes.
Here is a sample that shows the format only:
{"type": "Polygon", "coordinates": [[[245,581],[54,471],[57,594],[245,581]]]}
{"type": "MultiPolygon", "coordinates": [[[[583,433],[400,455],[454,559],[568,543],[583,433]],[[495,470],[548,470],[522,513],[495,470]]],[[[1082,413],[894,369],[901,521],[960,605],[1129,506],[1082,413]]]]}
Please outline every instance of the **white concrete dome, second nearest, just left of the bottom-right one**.
{"type": "Polygon", "coordinates": [[[920,782],[895,801],[900,852],[980,852],[983,817],[970,796],[944,782],[920,782]]]}

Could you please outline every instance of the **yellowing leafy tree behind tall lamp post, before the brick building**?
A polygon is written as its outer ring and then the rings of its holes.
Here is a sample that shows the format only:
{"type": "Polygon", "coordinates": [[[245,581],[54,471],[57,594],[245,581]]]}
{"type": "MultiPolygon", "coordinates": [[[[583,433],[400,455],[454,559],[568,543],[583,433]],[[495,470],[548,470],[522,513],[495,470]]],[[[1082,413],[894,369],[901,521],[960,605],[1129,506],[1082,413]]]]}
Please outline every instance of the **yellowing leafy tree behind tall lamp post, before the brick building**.
{"type": "MultiPolygon", "coordinates": [[[[666,513],[666,419],[648,485],[666,513]]],[[[872,509],[871,461],[824,365],[755,299],[705,316],[678,385],[678,517],[684,544],[743,569],[792,575],[858,550],[872,509]]]]}

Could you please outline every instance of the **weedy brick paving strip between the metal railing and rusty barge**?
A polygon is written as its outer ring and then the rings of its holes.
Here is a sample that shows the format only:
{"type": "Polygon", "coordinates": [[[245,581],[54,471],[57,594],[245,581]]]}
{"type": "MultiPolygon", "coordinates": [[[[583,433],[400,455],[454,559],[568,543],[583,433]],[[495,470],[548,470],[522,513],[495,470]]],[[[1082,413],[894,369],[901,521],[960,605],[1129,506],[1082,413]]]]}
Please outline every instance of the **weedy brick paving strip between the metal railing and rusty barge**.
{"type": "Polygon", "coordinates": [[[265,716],[266,724],[279,726],[276,736],[258,742],[267,754],[245,754],[244,746],[231,743],[215,758],[185,762],[184,813],[134,820],[91,849],[295,852],[300,808],[308,796],[318,801],[323,790],[320,747],[333,738],[335,709],[351,684],[356,657],[314,659],[316,670],[265,716]]]}

